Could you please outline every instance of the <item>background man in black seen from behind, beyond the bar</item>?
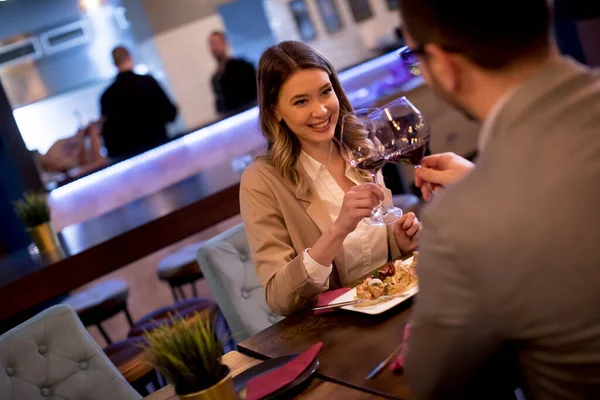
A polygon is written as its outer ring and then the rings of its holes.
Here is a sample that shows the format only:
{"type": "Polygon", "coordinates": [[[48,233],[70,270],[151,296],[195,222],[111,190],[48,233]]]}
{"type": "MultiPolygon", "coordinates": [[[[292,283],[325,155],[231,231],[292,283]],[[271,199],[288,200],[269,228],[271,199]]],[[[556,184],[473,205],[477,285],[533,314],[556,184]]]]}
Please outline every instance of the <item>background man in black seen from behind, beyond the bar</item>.
{"type": "Polygon", "coordinates": [[[133,72],[126,48],[115,48],[112,57],[119,74],[100,99],[102,135],[108,155],[123,159],[165,143],[165,124],[175,120],[177,107],[154,78],[133,72]]]}

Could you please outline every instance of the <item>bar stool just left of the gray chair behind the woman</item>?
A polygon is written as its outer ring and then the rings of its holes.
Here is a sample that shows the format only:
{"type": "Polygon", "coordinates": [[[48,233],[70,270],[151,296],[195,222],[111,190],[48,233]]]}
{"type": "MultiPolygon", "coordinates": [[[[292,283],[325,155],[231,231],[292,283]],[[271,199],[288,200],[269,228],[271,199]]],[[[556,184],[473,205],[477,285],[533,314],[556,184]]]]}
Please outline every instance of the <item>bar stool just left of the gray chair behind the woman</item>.
{"type": "Polygon", "coordinates": [[[175,302],[186,299],[182,286],[188,283],[192,286],[194,297],[198,297],[195,282],[204,278],[196,261],[196,252],[201,244],[188,245],[158,262],[158,278],[169,284],[175,302]]]}

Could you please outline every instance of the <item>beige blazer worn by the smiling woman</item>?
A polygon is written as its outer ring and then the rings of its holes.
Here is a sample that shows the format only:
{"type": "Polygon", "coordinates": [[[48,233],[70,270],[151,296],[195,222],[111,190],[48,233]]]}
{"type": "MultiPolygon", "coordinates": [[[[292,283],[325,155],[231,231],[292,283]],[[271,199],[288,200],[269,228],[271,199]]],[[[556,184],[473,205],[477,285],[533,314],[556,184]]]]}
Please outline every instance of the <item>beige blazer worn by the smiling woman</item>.
{"type": "MultiPolygon", "coordinates": [[[[305,174],[302,169],[301,173],[305,174]]],[[[340,251],[334,259],[328,286],[308,279],[302,252],[312,247],[333,223],[325,203],[314,189],[311,192],[307,196],[297,194],[264,160],[252,163],[242,176],[240,208],[252,259],[265,288],[267,304],[280,315],[299,311],[313,304],[318,294],[359,278],[347,270],[340,251]]],[[[389,189],[384,189],[384,194],[385,203],[391,205],[389,189]]],[[[391,227],[388,242],[391,256],[399,257],[391,227]]]]}

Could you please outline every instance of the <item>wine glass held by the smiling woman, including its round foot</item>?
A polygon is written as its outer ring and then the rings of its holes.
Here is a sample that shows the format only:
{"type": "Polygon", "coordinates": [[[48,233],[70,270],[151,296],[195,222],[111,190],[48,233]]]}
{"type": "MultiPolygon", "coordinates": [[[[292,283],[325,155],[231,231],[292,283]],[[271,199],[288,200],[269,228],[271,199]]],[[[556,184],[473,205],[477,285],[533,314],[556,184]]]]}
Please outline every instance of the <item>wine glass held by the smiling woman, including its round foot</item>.
{"type": "MultiPolygon", "coordinates": [[[[389,152],[395,150],[394,132],[381,114],[377,108],[365,108],[344,115],[340,136],[344,160],[354,168],[367,171],[375,184],[389,152]]],[[[392,224],[400,217],[399,208],[379,204],[364,221],[370,226],[381,226],[392,224]]]]}

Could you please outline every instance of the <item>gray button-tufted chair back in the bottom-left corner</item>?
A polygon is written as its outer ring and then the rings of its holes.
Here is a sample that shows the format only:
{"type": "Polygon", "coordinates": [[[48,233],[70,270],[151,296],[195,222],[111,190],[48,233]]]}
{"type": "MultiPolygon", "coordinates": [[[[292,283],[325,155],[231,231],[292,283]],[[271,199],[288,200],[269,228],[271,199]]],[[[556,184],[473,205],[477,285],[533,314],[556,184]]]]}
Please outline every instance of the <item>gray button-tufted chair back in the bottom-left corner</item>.
{"type": "Polygon", "coordinates": [[[67,305],[0,336],[0,400],[130,400],[125,381],[67,305]]]}

